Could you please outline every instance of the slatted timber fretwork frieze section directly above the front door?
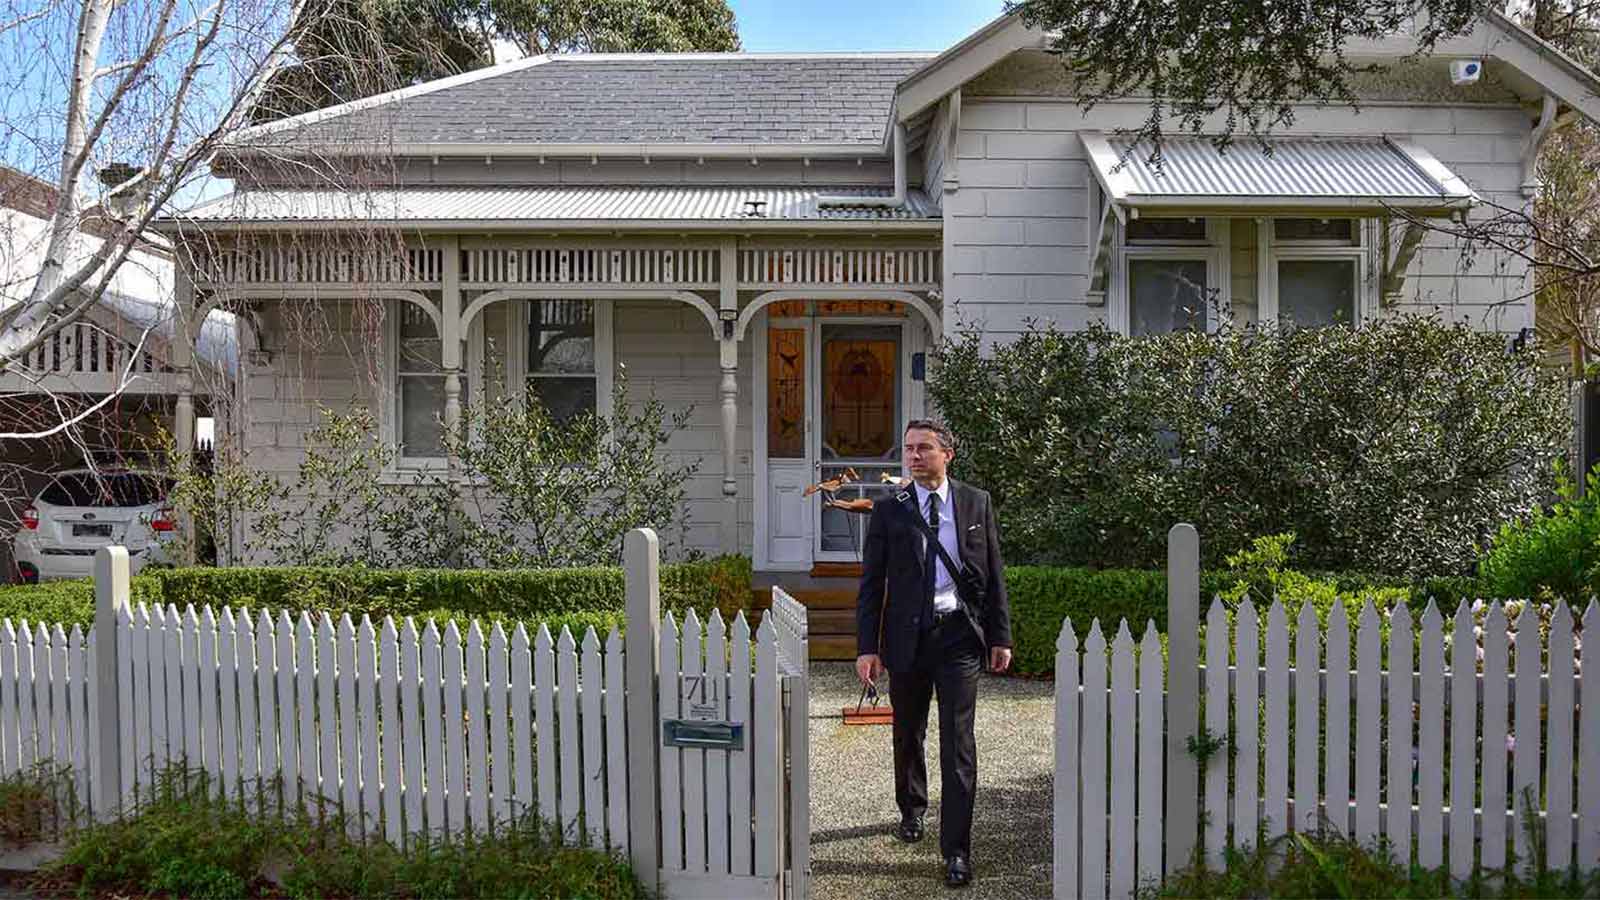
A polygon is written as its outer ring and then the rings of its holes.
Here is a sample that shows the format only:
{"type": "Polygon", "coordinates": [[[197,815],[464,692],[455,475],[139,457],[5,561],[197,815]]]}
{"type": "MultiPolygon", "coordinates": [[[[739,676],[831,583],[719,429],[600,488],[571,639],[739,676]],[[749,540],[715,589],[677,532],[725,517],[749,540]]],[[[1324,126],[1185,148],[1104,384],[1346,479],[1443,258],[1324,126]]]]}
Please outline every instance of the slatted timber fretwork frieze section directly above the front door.
{"type": "Polygon", "coordinates": [[[939,251],[771,248],[739,251],[741,288],[939,287],[939,251]]]}

